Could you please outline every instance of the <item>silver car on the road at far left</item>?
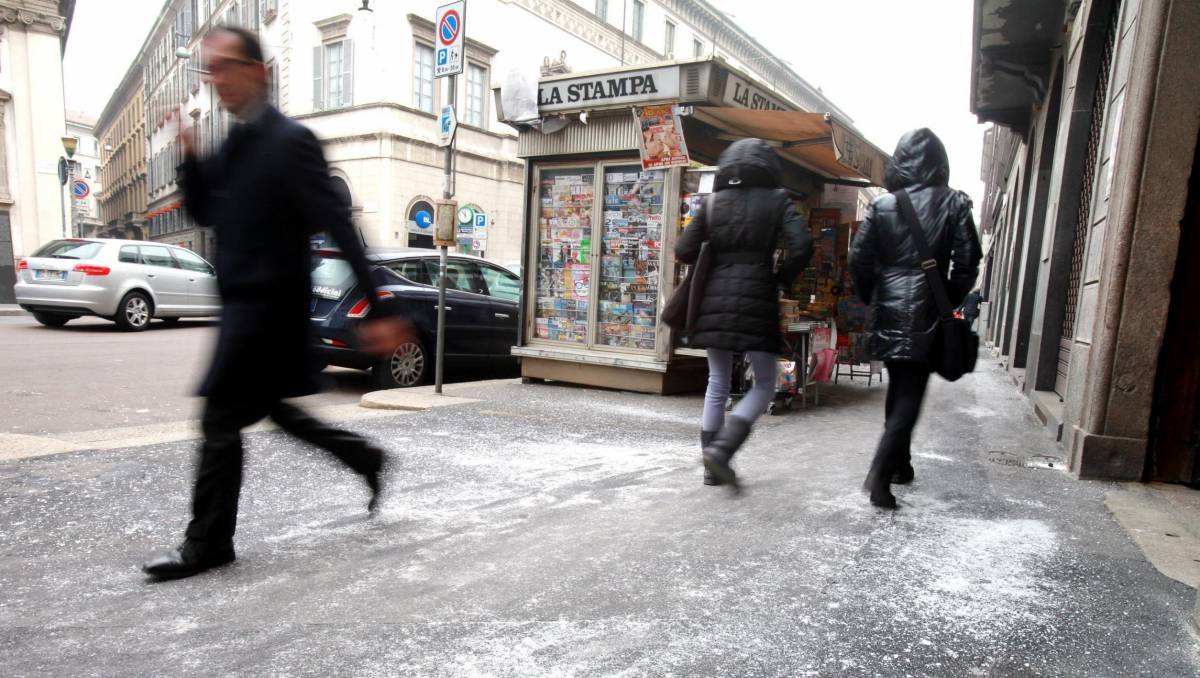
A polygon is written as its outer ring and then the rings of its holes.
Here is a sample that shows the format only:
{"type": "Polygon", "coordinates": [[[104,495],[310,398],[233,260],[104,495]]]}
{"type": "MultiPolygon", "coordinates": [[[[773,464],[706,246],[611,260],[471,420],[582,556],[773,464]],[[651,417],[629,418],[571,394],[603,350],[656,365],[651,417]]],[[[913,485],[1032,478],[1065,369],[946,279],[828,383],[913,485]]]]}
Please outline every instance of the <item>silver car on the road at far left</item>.
{"type": "Polygon", "coordinates": [[[152,318],[216,316],[212,266],[184,247],[142,240],[53,240],[17,264],[17,304],[47,326],[100,316],[139,331],[152,318]]]}

